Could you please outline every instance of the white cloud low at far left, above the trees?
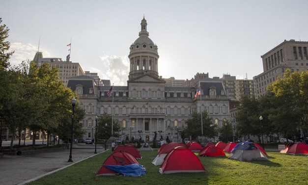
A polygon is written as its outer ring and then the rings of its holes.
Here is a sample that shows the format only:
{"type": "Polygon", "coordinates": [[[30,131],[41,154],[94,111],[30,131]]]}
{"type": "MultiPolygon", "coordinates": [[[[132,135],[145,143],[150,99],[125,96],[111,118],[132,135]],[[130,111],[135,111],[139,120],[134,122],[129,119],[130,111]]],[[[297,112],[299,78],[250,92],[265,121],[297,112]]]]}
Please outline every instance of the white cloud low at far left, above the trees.
{"type": "MultiPolygon", "coordinates": [[[[11,65],[18,65],[22,61],[32,61],[35,53],[37,52],[37,47],[32,44],[23,44],[20,42],[11,43],[10,51],[15,51],[15,53],[11,56],[10,63],[11,65]]],[[[43,52],[43,56],[48,58],[50,57],[50,53],[45,49],[40,49],[43,52]]]]}

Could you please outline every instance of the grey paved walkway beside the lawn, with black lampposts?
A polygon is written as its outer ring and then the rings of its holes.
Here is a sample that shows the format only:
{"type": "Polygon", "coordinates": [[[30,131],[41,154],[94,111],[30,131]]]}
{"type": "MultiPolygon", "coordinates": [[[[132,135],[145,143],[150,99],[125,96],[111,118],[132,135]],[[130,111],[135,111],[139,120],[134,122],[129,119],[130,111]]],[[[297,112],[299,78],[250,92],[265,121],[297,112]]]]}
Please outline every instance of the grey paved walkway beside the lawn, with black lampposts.
{"type": "MultiPolygon", "coordinates": [[[[71,164],[69,150],[35,155],[4,155],[0,158],[0,185],[17,185],[34,177],[71,164]]],[[[98,153],[103,149],[98,149],[98,153]]],[[[74,162],[94,154],[92,149],[73,149],[74,162]]]]}

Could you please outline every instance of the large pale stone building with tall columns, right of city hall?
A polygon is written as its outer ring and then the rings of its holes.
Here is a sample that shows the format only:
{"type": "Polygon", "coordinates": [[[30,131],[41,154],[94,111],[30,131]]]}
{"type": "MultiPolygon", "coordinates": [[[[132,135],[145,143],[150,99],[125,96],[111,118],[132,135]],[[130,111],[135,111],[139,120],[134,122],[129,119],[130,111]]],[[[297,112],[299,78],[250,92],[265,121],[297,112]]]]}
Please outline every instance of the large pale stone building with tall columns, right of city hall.
{"type": "Polygon", "coordinates": [[[278,77],[282,78],[284,71],[291,72],[308,70],[308,42],[284,40],[281,44],[261,56],[263,72],[253,77],[256,97],[266,93],[266,86],[272,84],[278,77]]]}

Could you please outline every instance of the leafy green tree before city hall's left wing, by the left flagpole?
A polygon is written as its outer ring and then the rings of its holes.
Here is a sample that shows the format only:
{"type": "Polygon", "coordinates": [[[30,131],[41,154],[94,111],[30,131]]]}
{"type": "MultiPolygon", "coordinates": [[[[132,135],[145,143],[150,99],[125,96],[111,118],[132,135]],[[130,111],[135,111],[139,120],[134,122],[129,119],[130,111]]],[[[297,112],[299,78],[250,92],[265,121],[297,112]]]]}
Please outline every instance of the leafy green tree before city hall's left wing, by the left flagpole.
{"type": "MultiPolygon", "coordinates": [[[[121,129],[121,125],[116,119],[113,120],[113,136],[118,137],[118,131],[121,129]]],[[[112,116],[110,114],[103,114],[97,121],[97,138],[109,139],[112,134],[112,116]],[[107,126],[106,126],[107,123],[107,126]]]]}

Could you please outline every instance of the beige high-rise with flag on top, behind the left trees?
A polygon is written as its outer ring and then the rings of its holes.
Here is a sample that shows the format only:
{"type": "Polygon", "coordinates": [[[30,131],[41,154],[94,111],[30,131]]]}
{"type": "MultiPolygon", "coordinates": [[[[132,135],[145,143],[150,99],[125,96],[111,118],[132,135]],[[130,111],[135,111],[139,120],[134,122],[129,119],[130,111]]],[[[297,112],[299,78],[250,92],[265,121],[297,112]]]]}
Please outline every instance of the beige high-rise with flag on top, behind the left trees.
{"type": "Polygon", "coordinates": [[[66,86],[68,78],[72,76],[84,75],[84,70],[78,62],[62,61],[61,58],[43,58],[42,52],[36,52],[34,62],[37,66],[41,66],[43,63],[48,62],[50,66],[59,69],[59,80],[66,86]]]}

